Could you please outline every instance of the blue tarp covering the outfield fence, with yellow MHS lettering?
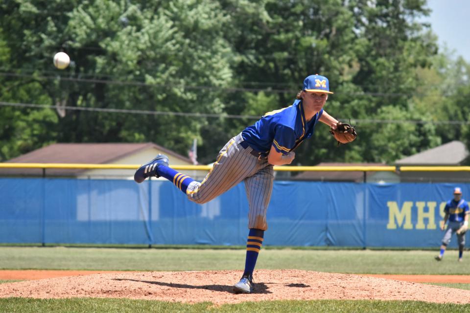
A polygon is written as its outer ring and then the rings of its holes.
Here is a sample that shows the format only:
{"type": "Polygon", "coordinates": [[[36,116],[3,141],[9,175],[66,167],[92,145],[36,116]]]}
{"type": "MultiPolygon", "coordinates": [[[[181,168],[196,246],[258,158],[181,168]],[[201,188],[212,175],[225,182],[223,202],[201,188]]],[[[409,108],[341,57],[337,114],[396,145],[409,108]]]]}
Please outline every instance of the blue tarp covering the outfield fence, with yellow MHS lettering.
{"type": "MultiPolygon", "coordinates": [[[[436,247],[455,186],[275,181],[265,244],[436,247]]],[[[0,179],[1,243],[245,245],[247,216],[243,184],[200,205],[168,181],[0,179]]]]}

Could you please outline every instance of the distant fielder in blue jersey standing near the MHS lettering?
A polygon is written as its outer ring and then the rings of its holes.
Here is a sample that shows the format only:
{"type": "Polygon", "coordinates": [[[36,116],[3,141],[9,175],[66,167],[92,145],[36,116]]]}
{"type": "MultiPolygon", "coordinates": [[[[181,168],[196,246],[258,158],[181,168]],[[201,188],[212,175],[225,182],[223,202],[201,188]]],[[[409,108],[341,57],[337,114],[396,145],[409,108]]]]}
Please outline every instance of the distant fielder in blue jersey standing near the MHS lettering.
{"type": "Polygon", "coordinates": [[[444,212],[446,215],[444,216],[444,223],[441,224],[441,230],[445,229],[447,219],[449,224],[447,225],[446,234],[442,239],[441,252],[438,256],[436,256],[435,259],[437,261],[442,260],[452,234],[456,233],[457,240],[459,242],[459,262],[462,262],[462,255],[465,246],[465,232],[467,231],[469,225],[470,209],[467,201],[462,199],[462,190],[459,187],[454,189],[454,199],[447,201],[444,212]]]}

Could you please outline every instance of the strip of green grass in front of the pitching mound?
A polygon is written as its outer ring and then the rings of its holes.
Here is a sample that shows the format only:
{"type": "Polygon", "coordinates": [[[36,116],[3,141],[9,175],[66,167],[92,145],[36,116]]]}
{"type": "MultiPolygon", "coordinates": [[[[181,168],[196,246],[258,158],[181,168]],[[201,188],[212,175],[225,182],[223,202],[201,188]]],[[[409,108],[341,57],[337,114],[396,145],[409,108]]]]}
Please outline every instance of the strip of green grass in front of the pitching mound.
{"type": "Polygon", "coordinates": [[[183,304],[162,301],[131,299],[0,299],[0,312],[213,312],[213,313],[266,313],[266,312],[315,312],[315,313],[466,313],[470,306],[435,304],[417,301],[364,301],[364,300],[318,300],[318,301],[260,301],[212,306],[211,303],[183,304]]]}

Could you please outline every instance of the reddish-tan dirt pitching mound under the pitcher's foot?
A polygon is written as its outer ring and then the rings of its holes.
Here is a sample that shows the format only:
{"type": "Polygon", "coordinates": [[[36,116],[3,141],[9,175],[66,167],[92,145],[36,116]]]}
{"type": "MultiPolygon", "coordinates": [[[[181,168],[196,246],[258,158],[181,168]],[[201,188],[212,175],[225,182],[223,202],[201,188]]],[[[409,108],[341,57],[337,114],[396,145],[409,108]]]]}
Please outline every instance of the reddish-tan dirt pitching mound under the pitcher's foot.
{"type": "Polygon", "coordinates": [[[0,297],[132,298],[214,304],[262,300],[375,299],[470,303],[470,291],[352,274],[257,270],[255,290],[235,294],[241,271],[125,272],[0,285],[0,297]]]}

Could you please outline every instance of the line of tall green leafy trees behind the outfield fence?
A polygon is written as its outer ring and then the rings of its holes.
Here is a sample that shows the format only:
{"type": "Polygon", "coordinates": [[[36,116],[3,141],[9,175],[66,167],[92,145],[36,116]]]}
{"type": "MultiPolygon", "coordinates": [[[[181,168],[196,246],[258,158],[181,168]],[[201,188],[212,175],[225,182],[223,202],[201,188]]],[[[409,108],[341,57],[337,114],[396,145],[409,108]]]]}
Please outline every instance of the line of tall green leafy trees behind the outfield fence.
{"type": "Polygon", "coordinates": [[[319,125],[295,164],[392,164],[468,144],[470,66],[439,49],[428,14],[425,0],[2,1],[0,160],[54,142],[151,141],[187,155],[197,138],[209,163],[314,73],[334,91],[325,109],[359,137],[337,147],[319,125]]]}

